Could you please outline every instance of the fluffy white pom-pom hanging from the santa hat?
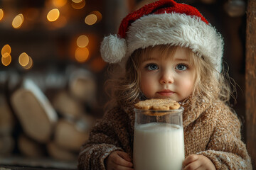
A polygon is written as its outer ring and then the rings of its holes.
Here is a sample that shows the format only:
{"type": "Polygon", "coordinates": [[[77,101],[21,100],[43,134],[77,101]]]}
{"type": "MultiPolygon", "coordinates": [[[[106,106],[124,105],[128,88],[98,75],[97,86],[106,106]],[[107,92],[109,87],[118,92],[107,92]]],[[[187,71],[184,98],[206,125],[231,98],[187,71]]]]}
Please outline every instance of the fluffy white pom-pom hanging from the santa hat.
{"type": "Polygon", "coordinates": [[[100,53],[105,62],[120,62],[126,54],[127,45],[124,38],[118,38],[117,35],[109,35],[102,41],[100,53]]]}

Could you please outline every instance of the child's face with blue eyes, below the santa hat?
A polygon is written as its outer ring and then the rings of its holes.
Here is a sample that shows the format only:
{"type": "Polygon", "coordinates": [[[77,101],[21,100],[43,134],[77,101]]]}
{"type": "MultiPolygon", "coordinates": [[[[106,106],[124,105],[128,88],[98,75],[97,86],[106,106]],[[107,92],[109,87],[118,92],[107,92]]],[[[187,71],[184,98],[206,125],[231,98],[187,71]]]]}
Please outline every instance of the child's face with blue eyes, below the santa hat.
{"type": "Polygon", "coordinates": [[[159,50],[152,50],[149,60],[139,65],[142,93],[146,98],[183,101],[192,94],[196,77],[196,69],[188,60],[188,52],[178,47],[174,56],[160,57],[159,54],[159,50]]]}

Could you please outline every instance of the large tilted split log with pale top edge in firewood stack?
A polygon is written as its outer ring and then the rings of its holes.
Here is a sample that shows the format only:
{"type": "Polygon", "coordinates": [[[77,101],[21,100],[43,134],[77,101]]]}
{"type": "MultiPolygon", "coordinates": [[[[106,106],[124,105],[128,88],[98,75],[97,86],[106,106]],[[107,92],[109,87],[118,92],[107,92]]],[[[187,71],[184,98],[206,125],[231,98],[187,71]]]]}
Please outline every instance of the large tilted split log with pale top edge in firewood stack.
{"type": "Polygon", "coordinates": [[[50,140],[58,116],[33,81],[26,79],[23,86],[11,94],[11,104],[28,137],[41,143],[50,140]]]}

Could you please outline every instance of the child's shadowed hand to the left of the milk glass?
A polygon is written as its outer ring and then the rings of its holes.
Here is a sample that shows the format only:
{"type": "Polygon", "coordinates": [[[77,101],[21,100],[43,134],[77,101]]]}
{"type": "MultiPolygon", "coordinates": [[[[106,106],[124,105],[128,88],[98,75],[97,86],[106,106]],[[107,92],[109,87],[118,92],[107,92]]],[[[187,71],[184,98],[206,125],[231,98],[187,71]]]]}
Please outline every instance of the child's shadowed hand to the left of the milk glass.
{"type": "Polygon", "coordinates": [[[105,159],[107,170],[133,170],[132,160],[122,151],[114,151],[105,159]]]}

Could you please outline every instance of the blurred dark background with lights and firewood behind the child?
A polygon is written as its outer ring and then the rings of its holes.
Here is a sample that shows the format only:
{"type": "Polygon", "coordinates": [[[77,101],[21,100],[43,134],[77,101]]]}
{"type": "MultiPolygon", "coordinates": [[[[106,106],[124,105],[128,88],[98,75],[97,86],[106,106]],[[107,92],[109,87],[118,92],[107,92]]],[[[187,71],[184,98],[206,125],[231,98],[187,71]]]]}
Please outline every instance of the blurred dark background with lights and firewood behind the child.
{"type": "MultiPolygon", "coordinates": [[[[100,42],[152,0],[0,0],[0,164],[75,169],[79,147],[109,100],[100,42]],[[48,164],[47,164],[48,162],[48,164]]],[[[196,6],[225,40],[245,141],[245,0],[196,6]]],[[[246,142],[246,141],[245,141],[246,142]]]]}

